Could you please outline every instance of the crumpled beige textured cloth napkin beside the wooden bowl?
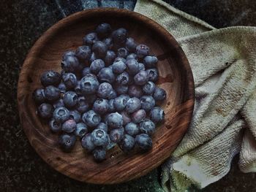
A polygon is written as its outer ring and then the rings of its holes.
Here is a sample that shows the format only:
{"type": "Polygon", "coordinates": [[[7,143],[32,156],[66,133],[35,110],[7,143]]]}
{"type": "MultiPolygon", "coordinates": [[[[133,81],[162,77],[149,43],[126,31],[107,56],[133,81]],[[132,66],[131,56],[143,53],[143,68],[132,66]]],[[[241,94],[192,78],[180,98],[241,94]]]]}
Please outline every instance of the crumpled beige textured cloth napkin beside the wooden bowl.
{"type": "Polygon", "coordinates": [[[256,171],[256,28],[216,29],[160,0],[138,0],[135,12],[172,34],[195,78],[195,110],[187,134],[162,165],[165,191],[204,188],[224,177],[233,156],[256,171]]]}

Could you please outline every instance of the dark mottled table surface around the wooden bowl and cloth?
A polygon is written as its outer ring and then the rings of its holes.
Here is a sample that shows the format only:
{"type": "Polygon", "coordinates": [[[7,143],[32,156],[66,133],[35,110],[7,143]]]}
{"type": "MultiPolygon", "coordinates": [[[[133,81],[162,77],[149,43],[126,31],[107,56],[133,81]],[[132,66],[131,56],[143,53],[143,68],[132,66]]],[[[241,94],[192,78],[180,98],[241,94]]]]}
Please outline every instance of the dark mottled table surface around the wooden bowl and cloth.
{"type": "MultiPolygon", "coordinates": [[[[178,9],[221,28],[256,26],[256,1],[165,0],[178,9]]],[[[29,48],[47,28],[82,9],[120,7],[133,9],[135,0],[2,0],[0,6],[0,191],[154,191],[159,170],[120,185],[90,185],[56,172],[29,145],[20,121],[16,87],[20,67],[29,48]]],[[[230,172],[203,191],[256,191],[255,174],[230,172]]]]}

